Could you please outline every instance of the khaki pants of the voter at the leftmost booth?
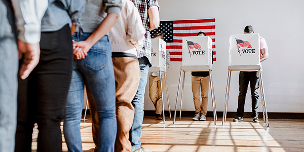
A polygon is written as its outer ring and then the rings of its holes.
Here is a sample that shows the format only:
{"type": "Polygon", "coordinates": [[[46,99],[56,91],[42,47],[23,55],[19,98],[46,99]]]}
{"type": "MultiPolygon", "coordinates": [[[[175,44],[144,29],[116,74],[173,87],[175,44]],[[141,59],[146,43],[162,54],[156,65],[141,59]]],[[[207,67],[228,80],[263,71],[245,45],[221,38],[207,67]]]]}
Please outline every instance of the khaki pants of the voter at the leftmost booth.
{"type": "MultiPolygon", "coordinates": [[[[162,75],[163,94],[165,91],[165,75],[162,75]]],[[[154,104],[155,113],[161,114],[163,109],[161,82],[159,76],[149,76],[149,97],[154,104]]]]}

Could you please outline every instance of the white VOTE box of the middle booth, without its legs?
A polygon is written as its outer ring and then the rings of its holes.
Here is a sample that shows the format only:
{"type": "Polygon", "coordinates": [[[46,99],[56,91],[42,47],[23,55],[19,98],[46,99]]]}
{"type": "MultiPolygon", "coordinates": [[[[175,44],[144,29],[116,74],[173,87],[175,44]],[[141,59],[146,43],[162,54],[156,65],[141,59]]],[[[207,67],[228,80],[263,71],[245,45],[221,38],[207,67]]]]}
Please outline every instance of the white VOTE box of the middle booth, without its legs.
{"type": "Polygon", "coordinates": [[[212,40],[209,36],[182,37],[182,66],[212,65],[212,40]]]}

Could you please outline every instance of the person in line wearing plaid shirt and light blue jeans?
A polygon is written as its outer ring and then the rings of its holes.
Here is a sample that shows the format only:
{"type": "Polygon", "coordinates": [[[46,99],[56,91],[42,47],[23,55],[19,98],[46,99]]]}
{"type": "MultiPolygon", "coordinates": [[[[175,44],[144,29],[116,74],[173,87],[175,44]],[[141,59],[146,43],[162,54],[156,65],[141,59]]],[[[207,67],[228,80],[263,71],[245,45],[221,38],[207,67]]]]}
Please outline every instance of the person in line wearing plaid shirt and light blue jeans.
{"type": "Polygon", "coordinates": [[[151,66],[151,36],[150,31],[160,25],[159,5],[157,0],[131,0],[138,9],[143,27],[146,30],[143,48],[137,50],[137,57],[141,77],[136,95],[132,101],[135,108],[133,125],[130,130],[129,140],[132,144],[132,151],[151,151],[141,147],[141,125],[143,121],[144,92],[147,84],[149,67],[151,66]]]}

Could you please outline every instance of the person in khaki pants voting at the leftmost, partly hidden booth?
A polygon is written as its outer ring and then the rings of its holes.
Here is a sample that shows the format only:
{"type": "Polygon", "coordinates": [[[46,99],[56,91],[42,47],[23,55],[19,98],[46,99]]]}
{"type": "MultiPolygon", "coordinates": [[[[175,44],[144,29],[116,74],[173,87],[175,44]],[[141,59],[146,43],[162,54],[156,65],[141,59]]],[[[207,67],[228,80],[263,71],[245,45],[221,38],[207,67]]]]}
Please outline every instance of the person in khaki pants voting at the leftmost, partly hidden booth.
{"type": "MultiPolygon", "coordinates": [[[[156,33],[154,39],[162,39],[164,41],[163,33],[156,33]]],[[[166,51],[166,68],[170,67],[170,54],[169,51],[166,51]]],[[[165,75],[162,73],[162,86],[165,87],[165,75]]],[[[157,120],[162,120],[161,117],[162,109],[163,109],[163,100],[162,100],[162,91],[161,91],[161,82],[160,82],[160,74],[159,72],[149,72],[149,97],[154,104],[155,107],[155,117],[157,120]]]]}

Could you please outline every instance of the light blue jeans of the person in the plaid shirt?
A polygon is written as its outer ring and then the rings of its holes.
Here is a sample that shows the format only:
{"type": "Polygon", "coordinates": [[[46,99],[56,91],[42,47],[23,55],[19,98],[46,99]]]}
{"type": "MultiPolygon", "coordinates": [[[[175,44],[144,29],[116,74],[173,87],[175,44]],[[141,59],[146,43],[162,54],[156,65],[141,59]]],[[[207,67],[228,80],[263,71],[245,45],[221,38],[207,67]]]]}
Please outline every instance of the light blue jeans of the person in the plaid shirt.
{"type": "Polygon", "coordinates": [[[139,139],[141,138],[141,125],[143,121],[143,103],[144,103],[144,92],[145,86],[148,80],[148,72],[149,72],[149,60],[146,57],[141,57],[138,59],[139,67],[141,72],[141,77],[139,81],[139,86],[136,92],[136,95],[132,101],[132,104],[135,108],[133,125],[130,130],[129,140],[132,144],[132,149],[140,148],[141,142],[139,139]]]}

